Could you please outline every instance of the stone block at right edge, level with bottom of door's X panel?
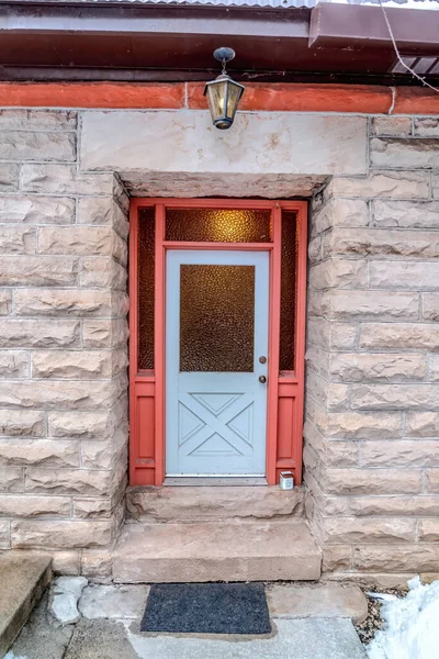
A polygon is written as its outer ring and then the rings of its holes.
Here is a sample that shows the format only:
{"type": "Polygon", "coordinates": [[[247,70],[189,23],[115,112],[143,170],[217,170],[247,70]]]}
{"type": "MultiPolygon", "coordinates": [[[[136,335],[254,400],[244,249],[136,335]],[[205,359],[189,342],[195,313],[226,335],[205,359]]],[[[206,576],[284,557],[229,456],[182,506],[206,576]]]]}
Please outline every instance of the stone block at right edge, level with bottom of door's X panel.
{"type": "Polygon", "coordinates": [[[360,445],[361,467],[436,467],[439,466],[439,440],[386,440],[384,437],[360,445]]]}

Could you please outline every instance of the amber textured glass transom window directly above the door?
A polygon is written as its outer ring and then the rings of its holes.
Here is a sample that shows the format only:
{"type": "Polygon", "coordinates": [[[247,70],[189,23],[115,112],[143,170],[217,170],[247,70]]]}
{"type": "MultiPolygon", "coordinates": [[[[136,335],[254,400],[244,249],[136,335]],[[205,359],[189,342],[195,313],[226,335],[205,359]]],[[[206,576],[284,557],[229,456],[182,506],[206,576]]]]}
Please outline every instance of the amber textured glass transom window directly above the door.
{"type": "Polygon", "coordinates": [[[167,209],[166,239],[270,243],[271,210],[167,209]]]}

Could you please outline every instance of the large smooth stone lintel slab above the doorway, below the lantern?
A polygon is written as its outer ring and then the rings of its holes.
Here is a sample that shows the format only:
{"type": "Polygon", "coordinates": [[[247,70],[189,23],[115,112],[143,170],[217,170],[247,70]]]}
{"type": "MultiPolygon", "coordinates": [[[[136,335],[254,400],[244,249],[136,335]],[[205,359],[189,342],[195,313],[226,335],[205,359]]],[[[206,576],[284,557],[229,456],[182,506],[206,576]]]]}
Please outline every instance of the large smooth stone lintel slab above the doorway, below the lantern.
{"type": "Polygon", "coordinates": [[[85,112],[80,167],[258,175],[262,168],[264,174],[301,176],[365,172],[363,118],[241,112],[234,134],[223,133],[212,131],[204,111],[85,112]]]}

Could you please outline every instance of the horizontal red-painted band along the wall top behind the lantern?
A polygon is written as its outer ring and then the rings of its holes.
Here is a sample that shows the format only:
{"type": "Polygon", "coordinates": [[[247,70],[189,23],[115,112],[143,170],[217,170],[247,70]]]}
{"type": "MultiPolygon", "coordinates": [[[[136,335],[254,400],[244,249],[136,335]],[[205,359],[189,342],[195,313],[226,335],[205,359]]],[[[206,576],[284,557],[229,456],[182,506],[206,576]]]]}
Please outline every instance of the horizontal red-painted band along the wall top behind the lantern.
{"type": "MultiPolygon", "coordinates": [[[[102,108],[121,110],[206,110],[204,82],[0,82],[3,108],[102,108]]],[[[421,87],[246,82],[240,110],[439,114],[439,97],[421,87]]],[[[180,200],[183,202],[184,200],[180,200]]]]}

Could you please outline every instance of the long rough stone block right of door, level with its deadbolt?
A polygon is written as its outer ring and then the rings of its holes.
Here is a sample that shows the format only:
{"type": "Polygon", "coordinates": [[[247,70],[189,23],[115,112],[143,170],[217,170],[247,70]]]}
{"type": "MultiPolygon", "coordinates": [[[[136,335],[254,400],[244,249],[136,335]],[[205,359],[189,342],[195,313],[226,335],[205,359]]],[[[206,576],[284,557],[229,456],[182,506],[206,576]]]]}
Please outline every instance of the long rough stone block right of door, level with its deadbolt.
{"type": "Polygon", "coordinates": [[[333,353],[329,372],[345,382],[423,380],[427,364],[425,355],[333,353]]]}

